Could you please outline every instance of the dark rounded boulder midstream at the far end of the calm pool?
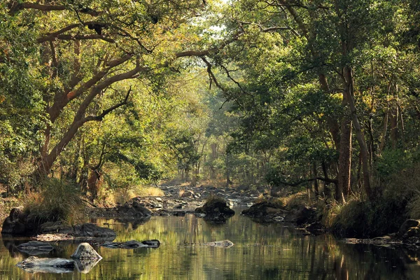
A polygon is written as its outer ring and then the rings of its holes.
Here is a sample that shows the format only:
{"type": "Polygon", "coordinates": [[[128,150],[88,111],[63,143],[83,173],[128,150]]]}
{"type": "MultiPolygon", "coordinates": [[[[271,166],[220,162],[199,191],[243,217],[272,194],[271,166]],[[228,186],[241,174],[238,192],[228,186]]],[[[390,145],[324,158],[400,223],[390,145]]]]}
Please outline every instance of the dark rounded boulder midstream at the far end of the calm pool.
{"type": "Polygon", "coordinates": [[[195,209],[196,214],[205,214],[204,217],[211,221],[225,222],[228,218],[235,215],[235,211],[228,207],[228,203],[220,197],[207,200],[203,207],[195,209]]]}

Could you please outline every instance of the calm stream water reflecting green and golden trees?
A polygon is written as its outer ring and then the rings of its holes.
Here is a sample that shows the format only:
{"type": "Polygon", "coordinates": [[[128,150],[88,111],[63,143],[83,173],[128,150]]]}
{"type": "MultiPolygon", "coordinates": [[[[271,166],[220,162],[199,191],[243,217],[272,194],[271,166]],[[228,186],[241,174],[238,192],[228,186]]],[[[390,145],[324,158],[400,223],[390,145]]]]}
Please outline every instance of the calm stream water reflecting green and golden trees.
{"type": "MultiPolygon", "coordinates": [[[[95,220],[116,230],[115,241],[159,239],[159,248],[94,246],[103,259],[87,274],[29,273],[16,267],[28,257],[0,238],[0,279],[420,279],[416,253],[402,248],[345,244],[330,235],[308,236],[282,223],[264,225],[235,215],[211,225],[194,215],[153,217],[144,224],[95,220]],[[203,246],[229,239],[231,248],[203,246]]],[[[77,244],[51,243],[41,257],[69,258],[77,244]]]]}

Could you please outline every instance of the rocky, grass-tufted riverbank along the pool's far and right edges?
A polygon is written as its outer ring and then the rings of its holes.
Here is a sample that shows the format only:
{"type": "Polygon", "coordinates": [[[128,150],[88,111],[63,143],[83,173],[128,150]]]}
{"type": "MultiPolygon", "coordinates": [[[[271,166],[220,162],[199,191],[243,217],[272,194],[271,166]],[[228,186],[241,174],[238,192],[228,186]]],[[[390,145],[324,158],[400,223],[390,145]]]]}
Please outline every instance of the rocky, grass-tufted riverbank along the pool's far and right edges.
{"type": "MultiPolygon", "coordinates": [[[[310,200],[307,193],[303,192],[286,197],[271,197],[264,189],[185,185],[159,188],[163,195],[132,197],[124,204],[116,204],[115,207],[95,207],[94,204],[86,203],[85,219],[87,221],[90,218],[113,218],[118,221],[146,223],[151,216],[193,214],[209,197],[221,197],[229,207],[245,208],[241,214],[260,223],[293,223],[295,228],[308,235],[332,232],[340,239],[349,238],[349,242],[366,240],[372,244],[409,244],[413,248],[420,248],[420,224],[411,223],[412,226],[401,230],[402,224],[409,217],[403,215],[404,207],[395,205],[395,200],[379,200],[380,203],[369,204],[353,199],[346,204],[337,204],[327,200],[310,200]]],[[[10,209],[18,206],[19,200],[1,201],[8,205],[2,207],[1,218],[4,220],[10,209]]]]}

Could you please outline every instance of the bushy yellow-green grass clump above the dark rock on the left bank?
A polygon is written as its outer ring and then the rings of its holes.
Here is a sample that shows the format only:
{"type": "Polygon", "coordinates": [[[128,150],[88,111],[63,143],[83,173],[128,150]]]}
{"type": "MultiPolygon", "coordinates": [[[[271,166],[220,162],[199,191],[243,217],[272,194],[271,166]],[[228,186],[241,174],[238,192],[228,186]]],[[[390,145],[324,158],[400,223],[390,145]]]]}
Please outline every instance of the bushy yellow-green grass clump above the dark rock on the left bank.
{"type": "Polygon", "coordinates": [[[77,186],[59,179],[45,179],[38,192],[27,195],[24,211],[41,221],[74,224],[83,220],[84,204],[77,186]]]}

